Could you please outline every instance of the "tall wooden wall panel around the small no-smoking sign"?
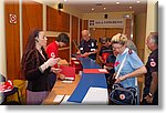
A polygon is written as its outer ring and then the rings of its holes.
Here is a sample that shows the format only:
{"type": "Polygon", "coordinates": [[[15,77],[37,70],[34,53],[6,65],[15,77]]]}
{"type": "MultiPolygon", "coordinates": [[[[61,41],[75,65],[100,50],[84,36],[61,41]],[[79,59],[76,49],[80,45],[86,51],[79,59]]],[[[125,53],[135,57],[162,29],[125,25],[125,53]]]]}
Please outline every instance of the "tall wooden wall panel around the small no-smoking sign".
{"type": "Polygon", "coordinates": [[[19,2],[11,0],[4,3],[6,47],[7,47],[7,78],[20,78],[20,13],[19,2]],[[17,23],[10,23],[9,14],[17,16],[17,23]]]}

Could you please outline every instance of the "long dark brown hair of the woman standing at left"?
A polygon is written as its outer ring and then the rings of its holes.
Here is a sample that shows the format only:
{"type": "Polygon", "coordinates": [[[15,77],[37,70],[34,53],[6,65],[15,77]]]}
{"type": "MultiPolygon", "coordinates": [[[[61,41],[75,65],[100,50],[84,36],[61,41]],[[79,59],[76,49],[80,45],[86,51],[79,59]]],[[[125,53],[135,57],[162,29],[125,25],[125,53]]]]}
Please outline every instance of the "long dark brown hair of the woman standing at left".
{"type": "Polygon", "coordinates": [[[23,52],[22,55],[22,61],[21,61],[21,70],[24,73],[24,70],[27,70],[27,63],[29,62],[29,58],[31,56],[31,60],[35,59],[37,60],[37,64],[32,64],[33,66],[38,66],[39,65],[39,56],[38,56],[38,51],[35,49],[35,38],[39,37],[39,32],[41,32],[42,30],[35,29],[33,31],[31,31],[28,41],[27,41],[27,45],[25,45],[25,50],[23,52]]]}

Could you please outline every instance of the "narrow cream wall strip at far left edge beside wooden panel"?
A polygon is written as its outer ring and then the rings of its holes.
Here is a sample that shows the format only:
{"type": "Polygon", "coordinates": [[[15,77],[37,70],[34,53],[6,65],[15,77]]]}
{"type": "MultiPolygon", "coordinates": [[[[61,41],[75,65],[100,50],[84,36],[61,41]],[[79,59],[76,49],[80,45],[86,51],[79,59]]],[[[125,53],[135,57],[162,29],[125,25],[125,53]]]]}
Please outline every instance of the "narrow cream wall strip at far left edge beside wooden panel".
{"type": "Polygon", "coordinates": [[[0,0],[0,73],[7,75],[3,0],[0,0]]]}

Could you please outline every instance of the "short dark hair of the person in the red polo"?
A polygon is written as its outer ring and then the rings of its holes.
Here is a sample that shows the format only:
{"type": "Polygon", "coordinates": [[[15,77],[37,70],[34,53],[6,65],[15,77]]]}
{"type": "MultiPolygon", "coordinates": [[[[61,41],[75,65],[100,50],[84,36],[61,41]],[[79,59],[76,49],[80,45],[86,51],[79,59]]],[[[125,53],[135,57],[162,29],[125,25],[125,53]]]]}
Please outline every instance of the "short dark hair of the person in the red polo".
{"type": "Polygon", "coordinates": [[[69,43],[69,35],[66,33],[60,33],[56,39],[58,42],[69,43]]]}

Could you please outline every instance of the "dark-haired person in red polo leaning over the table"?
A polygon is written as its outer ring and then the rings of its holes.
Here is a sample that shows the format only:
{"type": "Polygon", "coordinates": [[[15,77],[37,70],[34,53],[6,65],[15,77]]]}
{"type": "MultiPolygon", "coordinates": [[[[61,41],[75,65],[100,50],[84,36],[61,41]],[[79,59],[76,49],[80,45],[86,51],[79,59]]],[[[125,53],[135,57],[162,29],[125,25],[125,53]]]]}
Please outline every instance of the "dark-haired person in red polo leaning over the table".
{"type": "MultiPolygon", "coordinates": [[[[58,58],[58,51],[59,47],[64,47],[66,43],[69,43],[69,35],[65,33],[60,33],[55,41],[51,42],[46,47],[46,54],[49,58],[58,58]]],[[[54,68],[58,68],[58,64],[54,65],[54,68]]]]}

